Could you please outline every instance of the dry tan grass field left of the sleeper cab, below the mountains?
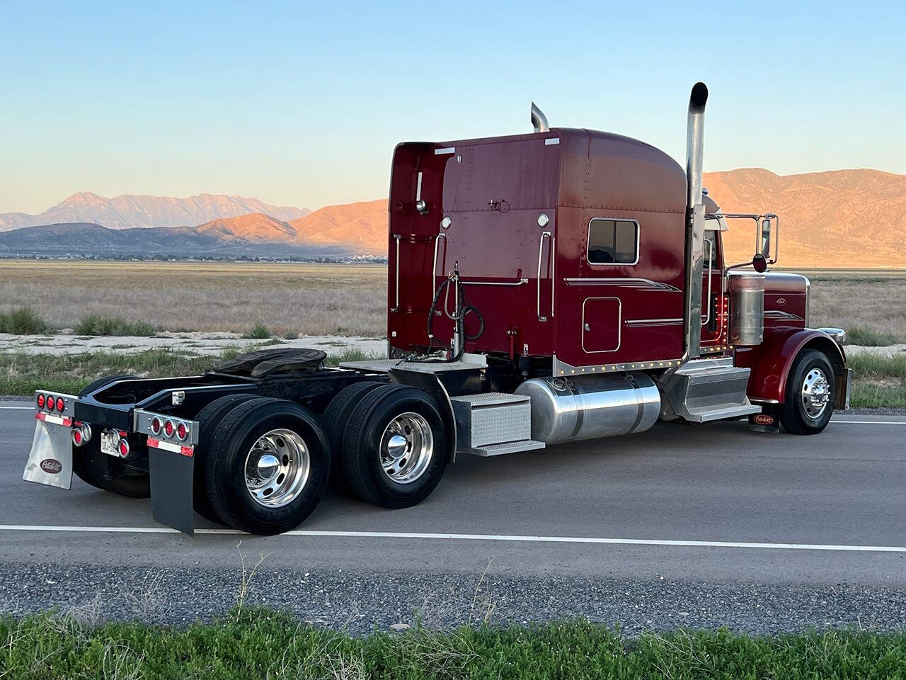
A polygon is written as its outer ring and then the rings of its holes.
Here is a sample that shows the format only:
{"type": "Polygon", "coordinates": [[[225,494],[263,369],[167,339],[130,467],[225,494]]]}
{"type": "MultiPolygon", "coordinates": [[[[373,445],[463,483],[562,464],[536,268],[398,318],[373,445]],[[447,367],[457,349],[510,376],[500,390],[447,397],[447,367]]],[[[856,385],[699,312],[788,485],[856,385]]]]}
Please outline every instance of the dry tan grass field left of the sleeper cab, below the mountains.
{"type": "Polygon", "coordinates": [[[386,332],[387,268],[258,262],[0,260],[0,314],[29,306],[57,328],[122,317],[161,331],[386,332]]]}

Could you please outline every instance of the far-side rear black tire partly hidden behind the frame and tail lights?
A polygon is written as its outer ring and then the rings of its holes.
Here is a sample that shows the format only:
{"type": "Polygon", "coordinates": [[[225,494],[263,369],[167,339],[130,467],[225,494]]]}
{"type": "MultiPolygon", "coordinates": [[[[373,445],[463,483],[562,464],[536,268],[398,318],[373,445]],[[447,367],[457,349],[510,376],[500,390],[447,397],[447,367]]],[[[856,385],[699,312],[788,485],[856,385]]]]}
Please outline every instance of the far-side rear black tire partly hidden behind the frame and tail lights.
{"type": "MultiPolygon", "coordinates": [[[[79,393],[80,397],[131,375],[106,375],[98,378],[79,393]]],[[[101,453],[100,433],[95,433],[91,441],[83,446],[72,446],[72,471],[80,480],[97,487],[102,491],[119,493],[127,498],[148,498],[151,495],[151,482],[148,472],[140,471],[126,465],[106,453],[101,453]]]]}

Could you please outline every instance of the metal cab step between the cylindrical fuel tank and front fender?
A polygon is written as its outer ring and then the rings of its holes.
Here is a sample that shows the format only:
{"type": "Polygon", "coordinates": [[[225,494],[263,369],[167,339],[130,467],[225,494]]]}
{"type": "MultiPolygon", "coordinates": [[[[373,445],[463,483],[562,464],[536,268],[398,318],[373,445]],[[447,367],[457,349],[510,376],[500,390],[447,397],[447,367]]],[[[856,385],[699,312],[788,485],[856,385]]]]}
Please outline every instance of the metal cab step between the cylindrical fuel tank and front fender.
{"type": "Polygon", "coordinates": [[[690,423],[761,413],[761,406],[748,401],[748,374],[730,357],[690,361],[672,375],[664,393],[673,413],[690,423]]]}

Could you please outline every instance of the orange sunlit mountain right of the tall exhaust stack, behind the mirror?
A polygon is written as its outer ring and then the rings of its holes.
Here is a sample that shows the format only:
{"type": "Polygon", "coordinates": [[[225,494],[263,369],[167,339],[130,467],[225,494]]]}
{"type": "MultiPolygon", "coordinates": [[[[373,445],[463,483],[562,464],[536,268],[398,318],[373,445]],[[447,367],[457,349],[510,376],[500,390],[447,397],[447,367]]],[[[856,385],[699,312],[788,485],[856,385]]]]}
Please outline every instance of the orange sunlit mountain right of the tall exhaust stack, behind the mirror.
{"type": "MultiPolygon", "coordinates": [[[[775,212],[782,267],[906,267],[906,175],[829,170],[776,175],[763,168],[706,172],[724,212],[775,212]]],[[[755,250],[755,224],[730,220],[729,259],[755,250]]]]}

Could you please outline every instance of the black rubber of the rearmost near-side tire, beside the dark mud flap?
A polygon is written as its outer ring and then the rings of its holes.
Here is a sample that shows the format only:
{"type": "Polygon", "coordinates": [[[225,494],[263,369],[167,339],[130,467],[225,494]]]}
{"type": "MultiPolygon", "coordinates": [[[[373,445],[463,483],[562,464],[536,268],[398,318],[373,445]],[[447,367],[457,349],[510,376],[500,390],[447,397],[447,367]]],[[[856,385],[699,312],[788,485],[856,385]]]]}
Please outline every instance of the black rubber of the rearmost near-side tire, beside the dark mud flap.
{"type": "Polygon", "coordinates": [[[271,535],[298,526],[321,500],[330,475],[330,444],[321,423],[296,403],[255,399],[233,406],[209,440],[204,481],[211,509],[222,524],[271,535]],[[307,480],[282,507],[265,507],[246,487],[246,458],[266,432],[282,429],[304,442],[309,457],[307,480]]]}

